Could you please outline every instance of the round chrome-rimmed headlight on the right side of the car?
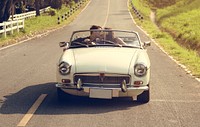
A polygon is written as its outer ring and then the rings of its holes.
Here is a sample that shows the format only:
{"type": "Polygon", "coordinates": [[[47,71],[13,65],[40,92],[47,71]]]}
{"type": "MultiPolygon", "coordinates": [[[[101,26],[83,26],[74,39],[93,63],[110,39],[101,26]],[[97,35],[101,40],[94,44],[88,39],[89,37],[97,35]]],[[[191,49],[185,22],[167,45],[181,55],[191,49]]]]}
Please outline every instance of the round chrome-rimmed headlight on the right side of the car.
{"type": "Polygon", "coordinates": [[[134,73],[138,77],[142,77],[147,73],[147,67],[143,64],[136,64],[134,66],[134,73]]]}

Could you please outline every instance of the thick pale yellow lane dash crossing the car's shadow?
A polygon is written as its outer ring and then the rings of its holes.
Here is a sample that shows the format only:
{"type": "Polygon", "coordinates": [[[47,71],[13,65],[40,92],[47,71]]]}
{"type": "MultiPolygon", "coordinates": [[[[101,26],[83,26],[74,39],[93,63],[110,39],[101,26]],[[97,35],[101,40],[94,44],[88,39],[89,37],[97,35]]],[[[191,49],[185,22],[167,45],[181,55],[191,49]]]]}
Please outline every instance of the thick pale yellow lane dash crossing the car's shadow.
{"type": "Polygon", "coordinates": [[[43,100],[46,98],[47,94],[41,94],[40,97],[35,101],[35,103],[32,105],[32,107],[28,110],[28,112],[24,115],[22,120],[17,125],[18,127],[24,127],[28,123],[28,121],[32,118],[35,111],[38,109],[40,104],[43,102],[43,100]]]}

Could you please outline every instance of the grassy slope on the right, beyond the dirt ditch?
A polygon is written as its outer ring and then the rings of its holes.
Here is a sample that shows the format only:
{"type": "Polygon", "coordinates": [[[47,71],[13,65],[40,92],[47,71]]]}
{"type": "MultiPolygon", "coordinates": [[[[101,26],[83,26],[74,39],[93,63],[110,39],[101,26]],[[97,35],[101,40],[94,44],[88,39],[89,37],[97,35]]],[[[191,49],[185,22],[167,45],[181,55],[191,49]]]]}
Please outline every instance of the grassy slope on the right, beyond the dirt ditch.
{"type": "MultiPolygon", "coordinates": [[[[162,0],[164,1],[164,0],[162,0]]],[[[200,54],[200,0],[170,0],[152,4],[156,9],[156,21],[162,30],[175,40],[200,54]],[[162,7],[161,7],[162,5],[162,7]]]]}

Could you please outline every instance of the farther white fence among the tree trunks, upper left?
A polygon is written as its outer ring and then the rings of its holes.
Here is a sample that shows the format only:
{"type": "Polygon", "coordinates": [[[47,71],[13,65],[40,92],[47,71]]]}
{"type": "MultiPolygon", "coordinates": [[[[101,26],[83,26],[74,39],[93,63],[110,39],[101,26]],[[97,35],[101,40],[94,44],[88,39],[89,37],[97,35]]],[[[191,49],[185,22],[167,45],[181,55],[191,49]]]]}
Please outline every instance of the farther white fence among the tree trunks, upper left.
{"type": "MultiPolygon", "coordinates": [[[[48,11],[50,9],[50,7],[46,7],[43,9],[40,9],[40,13],[44,13],[46,11],[48,11]]],[[[15,14],[12,16],[10,16],[9,20],[21,20],[21,19],[27,19],[27,18],[31,18],[31,17],[35,17],[36,16],[36,11],[30,11],[30,12],[26,12],[26,13],[22,13],[22,14],[15,14]]]]}

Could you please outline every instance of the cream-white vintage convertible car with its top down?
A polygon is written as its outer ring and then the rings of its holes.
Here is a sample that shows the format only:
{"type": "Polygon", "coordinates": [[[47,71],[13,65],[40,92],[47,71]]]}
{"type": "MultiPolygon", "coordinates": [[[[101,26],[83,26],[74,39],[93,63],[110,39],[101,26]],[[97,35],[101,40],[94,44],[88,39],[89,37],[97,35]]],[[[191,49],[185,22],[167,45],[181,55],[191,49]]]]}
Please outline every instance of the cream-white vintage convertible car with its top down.
{"type": "Polygon", "coordinates": [[[67,93],[103,99],[132,97],[138,102],[149,102],[147,46],[150,42],[142,43],[134,31],[73,32],[69,42],[60,42],[63,54],[57,64],[58,100],[63,100],[67,93]],[[92,40],[91,32],[100,36],[92,40]]]}

